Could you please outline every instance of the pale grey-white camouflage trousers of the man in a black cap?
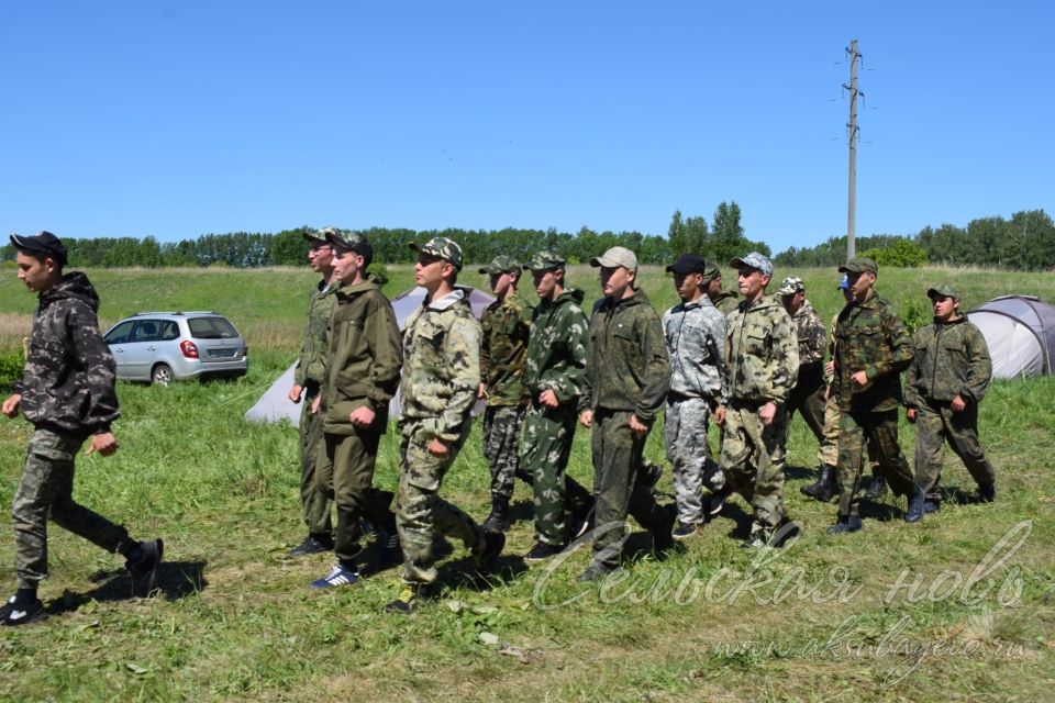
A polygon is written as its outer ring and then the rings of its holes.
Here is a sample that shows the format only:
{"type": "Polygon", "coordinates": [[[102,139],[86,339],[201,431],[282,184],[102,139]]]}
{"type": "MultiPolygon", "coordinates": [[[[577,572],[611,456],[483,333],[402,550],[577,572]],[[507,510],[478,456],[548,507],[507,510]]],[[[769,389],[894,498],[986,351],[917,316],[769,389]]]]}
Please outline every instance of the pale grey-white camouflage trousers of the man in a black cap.
{"type": "Polygon", "coordinates": [[[725,475],[707,444],[710,414],[710,401],[703,398],[667,400],[663,438],[674,472],[678,521],[684,525],[703,522],[704,486],[711,491],[725,486],[725,475]]]}

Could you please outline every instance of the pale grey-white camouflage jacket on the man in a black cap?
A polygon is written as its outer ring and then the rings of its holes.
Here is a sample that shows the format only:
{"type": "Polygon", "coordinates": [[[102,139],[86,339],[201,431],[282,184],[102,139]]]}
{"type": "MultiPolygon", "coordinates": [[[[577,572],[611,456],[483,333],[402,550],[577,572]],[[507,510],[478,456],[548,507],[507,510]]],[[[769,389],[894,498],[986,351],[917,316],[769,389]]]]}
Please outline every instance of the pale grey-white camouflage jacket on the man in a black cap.
{"type": "Polygon", "coordinates": [[[670,393],[718,401],[725,382],[725,315],[703,295],[663,315],[670,393]]]}

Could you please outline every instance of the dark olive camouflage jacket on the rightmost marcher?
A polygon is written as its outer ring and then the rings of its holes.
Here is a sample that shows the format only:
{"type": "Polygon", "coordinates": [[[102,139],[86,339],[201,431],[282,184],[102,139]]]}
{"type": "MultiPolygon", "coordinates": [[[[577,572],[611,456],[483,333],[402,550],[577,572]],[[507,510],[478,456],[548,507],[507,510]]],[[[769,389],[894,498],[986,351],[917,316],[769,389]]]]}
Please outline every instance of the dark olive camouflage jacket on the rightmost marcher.
{"type": "Polygon", "coordinates": [[[904,373],[904,404],[914,408],[920,399],[947,402],[963,397],[978,403],[992,378],[989,345],[966,315],[953,322],[917,330],[912,335],[915,357],[904,373]]]}

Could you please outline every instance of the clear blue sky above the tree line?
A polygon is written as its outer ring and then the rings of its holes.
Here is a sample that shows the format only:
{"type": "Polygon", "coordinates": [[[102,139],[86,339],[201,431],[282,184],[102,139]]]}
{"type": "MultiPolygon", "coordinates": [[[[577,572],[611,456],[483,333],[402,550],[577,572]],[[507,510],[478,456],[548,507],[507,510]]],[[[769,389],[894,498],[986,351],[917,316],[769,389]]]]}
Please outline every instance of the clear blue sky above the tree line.
{"type": "MultiPolygon", "coordinates": [[[[665,234],[774,252],[1055,212],[1051,2],[0,4],[0,225],[665,234]]],[[[5,238],[5,237],[4,237],[5,238]]]]}

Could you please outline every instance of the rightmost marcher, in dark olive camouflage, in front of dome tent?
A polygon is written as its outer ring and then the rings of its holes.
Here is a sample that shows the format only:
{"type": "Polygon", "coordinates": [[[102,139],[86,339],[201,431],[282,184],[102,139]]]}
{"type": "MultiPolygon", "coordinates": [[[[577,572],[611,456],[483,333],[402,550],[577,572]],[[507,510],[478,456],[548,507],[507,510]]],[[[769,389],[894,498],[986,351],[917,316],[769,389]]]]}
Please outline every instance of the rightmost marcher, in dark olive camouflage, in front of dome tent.
{"type": "Polygon", "coordinates": [[[992,378],[986,338],[959,312],[959,291],[944,284],[926,291],[934,323],[912,337],[915,356],[904,373],[904,403],[915,423],[915,488],[926,494],[922,512],[936,509],[945,443],[978,483],[984,502],[996,498],[996,471],[978,440],[978,404],[992,378]]]}

